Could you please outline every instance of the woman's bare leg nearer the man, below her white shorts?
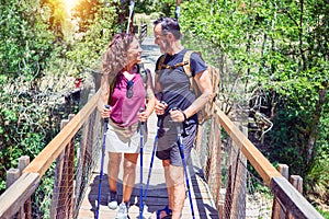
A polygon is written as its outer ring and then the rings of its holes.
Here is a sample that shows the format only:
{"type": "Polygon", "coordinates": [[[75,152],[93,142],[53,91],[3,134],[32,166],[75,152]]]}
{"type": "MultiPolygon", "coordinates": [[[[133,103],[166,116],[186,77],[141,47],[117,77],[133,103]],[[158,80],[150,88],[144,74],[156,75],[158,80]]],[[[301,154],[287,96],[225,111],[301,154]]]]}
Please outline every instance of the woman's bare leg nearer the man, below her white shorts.
{"type": "Polygon", "coordinates": [[[123,203],[128,203],[134,189],[136,180],[136,163],[139,153],[124,154],[124,174],[123,174],[123,203]]]}

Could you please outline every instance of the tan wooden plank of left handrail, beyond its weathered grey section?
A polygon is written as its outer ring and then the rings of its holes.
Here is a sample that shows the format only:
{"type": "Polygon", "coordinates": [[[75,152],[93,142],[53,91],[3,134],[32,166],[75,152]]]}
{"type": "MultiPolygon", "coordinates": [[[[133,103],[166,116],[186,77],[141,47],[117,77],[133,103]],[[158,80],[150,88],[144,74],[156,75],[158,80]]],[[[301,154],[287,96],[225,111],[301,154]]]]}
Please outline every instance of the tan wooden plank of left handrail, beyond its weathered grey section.
{"type": "Polygon", "coordinates": [[[24,173],[38,173],[39,177],[49,169],[54,160],[70,142],[89,115],[95,110],[100,91],[83,106],[83,108],[65,126],[61,131],[26,166],[24,173]]]}

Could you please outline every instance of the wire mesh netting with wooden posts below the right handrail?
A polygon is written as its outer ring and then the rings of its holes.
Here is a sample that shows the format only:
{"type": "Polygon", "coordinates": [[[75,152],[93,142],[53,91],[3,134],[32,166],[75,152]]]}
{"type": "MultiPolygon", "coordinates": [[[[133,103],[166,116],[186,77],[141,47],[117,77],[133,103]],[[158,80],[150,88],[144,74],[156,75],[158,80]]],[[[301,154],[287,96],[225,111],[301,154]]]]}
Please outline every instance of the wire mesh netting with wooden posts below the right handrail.
{"type": "Polygon", "coordinates": [[[212,119],[200,132],[196,150],[219,217],[271,218],[273,195],[219,123],[212,119]]]}

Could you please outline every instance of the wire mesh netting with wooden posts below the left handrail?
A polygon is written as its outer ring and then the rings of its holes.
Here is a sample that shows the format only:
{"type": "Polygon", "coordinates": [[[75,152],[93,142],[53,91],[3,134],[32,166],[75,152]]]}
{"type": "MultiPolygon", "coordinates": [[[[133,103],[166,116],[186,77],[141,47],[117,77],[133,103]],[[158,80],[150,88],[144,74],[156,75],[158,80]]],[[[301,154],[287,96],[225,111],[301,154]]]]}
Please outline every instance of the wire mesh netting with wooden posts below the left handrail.
{"type": "MultiPolygon", "coordinates": [[[[94,91],[89,94],[89,99],[93,95],[94,91]]],[[[83,102],[86,103],[87,100],[83,102]]],[[[18,212],[12,218],[75,218],[77,216],[100,155],[102,139],[101,117],[97,110],[93,110],[90,115],[80,116],[86,120],[82,127],[76,130],[71,139],[68,139],[67,146],[58,152],[57,158],[55,154],[50,155],[55,161],[42,175],[38,184],[34,185],[35,192],[22,207],[16,209],[18,212]]],[[[67,119],[63,119],[61,129],[75,115],[69,115],[67,119]]],[[[76,118],[76,123],[80,123],[79,119],[76,118]]],[[[20,177],[21,172],[18,171],[15,178],[20,177]]],[[[29,186],[31,185],[26,185],[29,186]]]]}

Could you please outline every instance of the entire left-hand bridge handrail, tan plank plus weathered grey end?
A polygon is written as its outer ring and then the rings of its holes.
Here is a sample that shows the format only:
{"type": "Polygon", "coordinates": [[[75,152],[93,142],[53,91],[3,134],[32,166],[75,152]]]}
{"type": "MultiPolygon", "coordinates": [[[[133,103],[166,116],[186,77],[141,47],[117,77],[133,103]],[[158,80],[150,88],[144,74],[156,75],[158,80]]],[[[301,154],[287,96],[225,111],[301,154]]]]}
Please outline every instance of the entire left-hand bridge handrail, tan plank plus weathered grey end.
{"type": "Polygon", "coordinates": [[[50,164],[64,151],[97,107],[100,91],[79,111],[79,113],[60,130],[60,132],[42,150],[42,152],[23,170],[19,177],[0,196],[0,218],[10,218],[23,206],[38,187],[39,180],[50,164]]]}

